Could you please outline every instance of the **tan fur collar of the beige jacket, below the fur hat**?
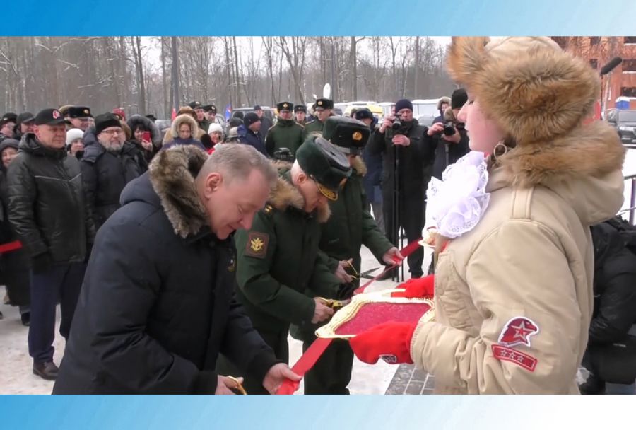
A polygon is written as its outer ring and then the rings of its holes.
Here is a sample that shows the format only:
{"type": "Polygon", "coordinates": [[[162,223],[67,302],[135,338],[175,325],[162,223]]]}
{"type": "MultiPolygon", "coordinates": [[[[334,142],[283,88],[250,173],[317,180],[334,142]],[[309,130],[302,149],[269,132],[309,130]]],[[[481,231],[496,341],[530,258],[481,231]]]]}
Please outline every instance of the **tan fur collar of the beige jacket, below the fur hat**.
{"type": "Polygon", "coordinates": [[[549,142],[526,144],[497,158],[510,182],[522,187],[592,176],[600,178],[623,167],[625,148],[616,130],[596,121],[549,142]]]}

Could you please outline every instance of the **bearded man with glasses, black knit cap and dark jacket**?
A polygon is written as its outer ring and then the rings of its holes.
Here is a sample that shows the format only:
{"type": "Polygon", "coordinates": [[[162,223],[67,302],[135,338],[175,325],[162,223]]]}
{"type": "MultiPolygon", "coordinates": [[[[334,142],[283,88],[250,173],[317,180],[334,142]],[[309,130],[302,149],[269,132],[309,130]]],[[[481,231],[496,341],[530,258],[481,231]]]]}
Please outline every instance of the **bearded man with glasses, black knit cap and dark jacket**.
{"type": "Polygon", "coordinates": [[[95,136],[98,144],[84,150],[80,165],[86,201],[95,228],[100,228],[119,209],[119,196],[126,184],[146,169],[140,164],[141,151],[126,142],[122,124],[112,113],[95,118],[95,136]]]}

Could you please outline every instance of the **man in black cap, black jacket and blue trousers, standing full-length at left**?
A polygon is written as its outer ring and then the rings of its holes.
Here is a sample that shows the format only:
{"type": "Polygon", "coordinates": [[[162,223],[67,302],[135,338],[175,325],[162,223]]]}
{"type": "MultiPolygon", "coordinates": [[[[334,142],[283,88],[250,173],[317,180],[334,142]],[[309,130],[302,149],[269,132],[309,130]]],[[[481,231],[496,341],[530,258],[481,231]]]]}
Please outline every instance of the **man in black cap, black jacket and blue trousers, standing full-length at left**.
{"type": "Polygon", "coordinates": [[[34,122],[8,165],[8,218],[30,257],[33,373],[53,380],[55,308],[59,301],[59,332],[68,339],[95,226],[79,161],[66,154],[66,120],[45,109],[34,122]]]}

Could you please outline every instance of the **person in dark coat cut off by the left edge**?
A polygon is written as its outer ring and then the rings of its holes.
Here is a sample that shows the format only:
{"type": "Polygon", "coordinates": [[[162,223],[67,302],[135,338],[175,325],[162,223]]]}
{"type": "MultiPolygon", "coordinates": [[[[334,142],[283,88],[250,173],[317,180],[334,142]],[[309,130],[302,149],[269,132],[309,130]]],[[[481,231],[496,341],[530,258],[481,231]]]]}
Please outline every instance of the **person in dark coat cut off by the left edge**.
{"type": "Polygon", "coordinates": [[[2,165],[0,167],[0,269],[2,279],[6,285],[9,303],[19,306],[23,325],[30,322],[30,280],[29,257],[18,239],[16,231],[8,222],[8,194],[6,184],[6,168],[18,153],[19,142],[14,139],[4,139],[0,144],[2,165]]]}

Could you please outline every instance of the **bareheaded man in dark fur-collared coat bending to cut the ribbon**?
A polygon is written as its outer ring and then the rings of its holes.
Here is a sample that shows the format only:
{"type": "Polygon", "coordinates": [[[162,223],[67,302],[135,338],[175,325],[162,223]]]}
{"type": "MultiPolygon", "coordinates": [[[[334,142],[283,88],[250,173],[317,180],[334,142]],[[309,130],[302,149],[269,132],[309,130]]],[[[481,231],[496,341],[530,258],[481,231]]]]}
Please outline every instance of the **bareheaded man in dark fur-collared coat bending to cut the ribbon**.
{"type": "Polygon", "coordinates": [[[232,234],[275,183],[247,145],[160,151],[98,232],[53,393],[231,394],[219,353],[271,393],[300,380],[234,296],[232,234]]]}

